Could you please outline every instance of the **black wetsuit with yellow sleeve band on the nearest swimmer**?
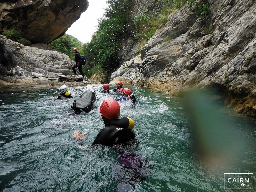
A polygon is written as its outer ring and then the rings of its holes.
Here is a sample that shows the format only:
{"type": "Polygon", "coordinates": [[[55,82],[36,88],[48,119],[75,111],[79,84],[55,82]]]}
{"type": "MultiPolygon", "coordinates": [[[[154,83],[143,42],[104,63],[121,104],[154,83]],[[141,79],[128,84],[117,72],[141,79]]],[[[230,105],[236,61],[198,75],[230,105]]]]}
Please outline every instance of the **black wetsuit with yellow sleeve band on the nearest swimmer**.
{"type": "Polygon", "coordinates": [[[107,119],[102,117],[105,127],[100,130],[93,144],[112,146],[134,140],[135,134],[132,131],[134,121],[129,117],[122,119],[107,119]]]}

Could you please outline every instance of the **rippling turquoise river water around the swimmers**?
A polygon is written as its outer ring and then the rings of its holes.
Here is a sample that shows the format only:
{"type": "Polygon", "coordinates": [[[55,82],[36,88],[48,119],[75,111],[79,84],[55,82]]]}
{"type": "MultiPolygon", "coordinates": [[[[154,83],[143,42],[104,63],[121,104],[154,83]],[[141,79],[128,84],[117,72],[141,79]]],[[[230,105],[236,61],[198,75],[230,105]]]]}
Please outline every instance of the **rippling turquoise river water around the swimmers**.
{"type": "MultiPolygon", "coordinates": [[[[121,103],[121,117],[135,121],[136,142],[115,147],[92,146],[104,127],[99,108],[76,115],[74,98],[56,99],[58,88],[0,91],[1,191],[227,191],[223,173],[255,175],[254,119],[227,114],[236,134],[251,144],[236,159],[239,164],[216,168],[193,150],[181,98],[130,88],[139,104],[121,103]],[[78,129],[88,132],[82,145],[72,138],[78,129]],[[121,164],[126,155],[137,166],[121,164]]],[[[68,89],[74,97],[86,90],[95,91],[96,106],[119,97],[101,93],[102,84],[68,89]]]]}

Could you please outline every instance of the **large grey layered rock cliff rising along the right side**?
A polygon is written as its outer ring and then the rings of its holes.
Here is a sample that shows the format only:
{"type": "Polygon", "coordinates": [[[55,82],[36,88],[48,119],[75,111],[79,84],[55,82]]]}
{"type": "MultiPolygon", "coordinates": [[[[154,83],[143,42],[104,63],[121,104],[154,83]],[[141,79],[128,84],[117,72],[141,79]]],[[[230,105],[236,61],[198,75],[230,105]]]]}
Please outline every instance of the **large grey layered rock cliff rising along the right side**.
{"type": "Polygon", "coordinates": [[[178,95],[187,87],[215,87],[236,113],[256,115],[256,1],[209,0],[197,17],[185,4],[112,74],[112,82],[178,95]]]}

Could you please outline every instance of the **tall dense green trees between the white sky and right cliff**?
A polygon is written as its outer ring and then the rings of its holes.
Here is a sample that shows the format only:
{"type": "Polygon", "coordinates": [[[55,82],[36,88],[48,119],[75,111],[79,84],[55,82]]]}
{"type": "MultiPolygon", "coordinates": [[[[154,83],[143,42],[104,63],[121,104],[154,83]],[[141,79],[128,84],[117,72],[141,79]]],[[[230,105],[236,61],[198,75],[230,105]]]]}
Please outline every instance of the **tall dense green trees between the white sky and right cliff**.
{"type": "Polygon", "coordinates": [[[118,67],[118,46],[127,35],[126,25],[130,1],[108,0],[104,17],[99,19],[98,30],[90,43],[83,46],[87,56],[86,76],[103,72],[107,78],[118,67]]]}

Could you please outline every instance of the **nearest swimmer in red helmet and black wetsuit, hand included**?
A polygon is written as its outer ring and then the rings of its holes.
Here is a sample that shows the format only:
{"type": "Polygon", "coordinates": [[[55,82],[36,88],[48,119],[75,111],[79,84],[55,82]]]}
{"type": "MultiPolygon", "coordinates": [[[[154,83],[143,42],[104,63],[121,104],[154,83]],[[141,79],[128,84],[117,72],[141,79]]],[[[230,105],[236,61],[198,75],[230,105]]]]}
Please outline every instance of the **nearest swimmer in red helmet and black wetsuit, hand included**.
{"type": "MultiPolygon", "coordinates": [[[[100,106],[100,113],[105,127],[100,130],[93,145],[113,146],[114,144],[126,143],[135,139],[135,134],[132,131],[134,121],[129,117],[119,119],[120,106],[116,100],[112,98],[104,100],[100,106]]],[[[80,140],[85,134],[81,134],[78,130],[73,133],[73,138],[80,140]]]]}

